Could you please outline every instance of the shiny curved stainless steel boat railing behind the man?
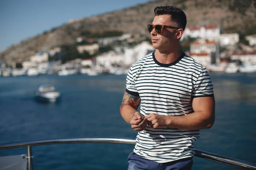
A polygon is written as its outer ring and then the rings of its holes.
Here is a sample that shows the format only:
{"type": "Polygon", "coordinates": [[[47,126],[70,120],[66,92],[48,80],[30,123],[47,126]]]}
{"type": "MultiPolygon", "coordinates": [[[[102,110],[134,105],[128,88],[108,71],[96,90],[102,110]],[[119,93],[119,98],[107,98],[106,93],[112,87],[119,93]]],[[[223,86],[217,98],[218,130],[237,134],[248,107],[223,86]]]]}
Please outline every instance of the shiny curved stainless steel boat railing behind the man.
{"type": "MultiPolygon", "coordinates": [[[[27,147],[28,150],[28,169],[33,170],[32,164],[32,146],[47,145],[47,144],[69,144],[69,143],[119,143],[119,144],[135,144],[135,140],[131,139],[108,139],[108,138],[78,138],[78,139],[52,139],[38,140],[20,143],[10,143],[0,145],[0,150],[16,147],[27,147]]],[[[195,149],[195,156],[211,161],[227,164],[233,167],[238,167],[245,170],[256,170],[256,164],[241,161],[238,159],[229,158],[226,156],[217,155],[214,153],[205,152],[195,149]]]]}

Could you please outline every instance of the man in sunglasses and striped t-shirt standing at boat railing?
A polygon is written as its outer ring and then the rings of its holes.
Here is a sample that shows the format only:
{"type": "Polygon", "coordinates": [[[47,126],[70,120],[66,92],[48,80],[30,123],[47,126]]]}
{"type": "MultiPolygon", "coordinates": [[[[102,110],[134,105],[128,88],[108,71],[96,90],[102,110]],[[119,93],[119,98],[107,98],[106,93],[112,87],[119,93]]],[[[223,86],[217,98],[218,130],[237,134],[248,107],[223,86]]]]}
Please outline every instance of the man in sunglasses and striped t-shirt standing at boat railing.
{"type": "Polygon", "coordinates": [[[179,51],[184,12],[160,6],[154,13],[148,31],[155,51],[131,66],[120,106],[138,132],[128,169],[189,170],[199,130],[215,120],[213,86],[204,66],[179,51]]]}

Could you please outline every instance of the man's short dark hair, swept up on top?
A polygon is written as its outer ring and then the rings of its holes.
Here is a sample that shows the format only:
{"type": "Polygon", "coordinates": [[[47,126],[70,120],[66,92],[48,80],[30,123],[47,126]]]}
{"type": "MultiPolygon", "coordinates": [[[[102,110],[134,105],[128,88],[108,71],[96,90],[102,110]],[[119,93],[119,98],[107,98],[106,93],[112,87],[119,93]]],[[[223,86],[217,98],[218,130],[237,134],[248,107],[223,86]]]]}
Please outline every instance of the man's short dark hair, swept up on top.
{"type": "Polygon", "coordinates": [[[172,15],[172,20],[176,22],[180,28],[185,30],[186,28],[186,14],[182,9],[175,6],[157,6],[154,8],[155,16],[169,14],[172,15]]]}

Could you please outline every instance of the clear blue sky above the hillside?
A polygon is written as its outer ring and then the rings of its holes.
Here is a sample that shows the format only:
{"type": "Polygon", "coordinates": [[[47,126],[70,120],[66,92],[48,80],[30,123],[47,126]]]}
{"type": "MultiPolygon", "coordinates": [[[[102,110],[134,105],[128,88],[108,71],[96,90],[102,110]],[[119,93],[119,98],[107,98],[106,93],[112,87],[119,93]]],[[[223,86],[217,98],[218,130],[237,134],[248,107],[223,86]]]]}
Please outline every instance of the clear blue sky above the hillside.
{"type": "Polygon", "coordinates": [[[152,0],[0,0],[0,51],[79,19],[152,0]]]}

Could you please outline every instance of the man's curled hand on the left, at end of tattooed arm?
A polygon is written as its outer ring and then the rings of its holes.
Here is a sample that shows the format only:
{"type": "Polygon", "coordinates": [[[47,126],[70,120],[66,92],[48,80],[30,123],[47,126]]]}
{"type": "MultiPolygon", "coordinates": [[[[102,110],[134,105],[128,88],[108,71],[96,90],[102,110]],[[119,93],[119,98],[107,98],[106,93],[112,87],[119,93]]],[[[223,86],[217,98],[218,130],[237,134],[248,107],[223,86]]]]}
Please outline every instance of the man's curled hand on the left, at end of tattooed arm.
{"type": "Polygon", "coordinates": [[[145,128],[147,127],[147,122],[148,120],[145,119],[142,116],[142,114],[140,114],[139,112],[136,112],[134,113],[134,116],[131,118],[130,124],[131,124],[131,128],[133,128],[137,132],[141,132],[145,130],[145,128]]]}

